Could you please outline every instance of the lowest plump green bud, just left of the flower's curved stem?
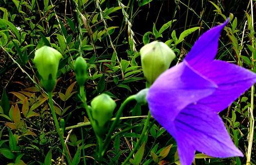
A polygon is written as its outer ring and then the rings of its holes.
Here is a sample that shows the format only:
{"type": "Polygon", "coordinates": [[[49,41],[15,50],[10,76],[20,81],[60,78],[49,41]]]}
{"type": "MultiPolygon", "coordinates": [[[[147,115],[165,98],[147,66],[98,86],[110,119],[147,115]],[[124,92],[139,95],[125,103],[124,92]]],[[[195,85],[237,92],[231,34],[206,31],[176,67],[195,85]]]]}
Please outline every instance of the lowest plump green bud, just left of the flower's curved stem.
{"type": "Polygon", "coordinates": [[[91,102],[91,114],[94,120],[94,131],[102,136],[108,131],[108,124],[113,116],[116,102],[107,94],[100,94],[91,102]]]}

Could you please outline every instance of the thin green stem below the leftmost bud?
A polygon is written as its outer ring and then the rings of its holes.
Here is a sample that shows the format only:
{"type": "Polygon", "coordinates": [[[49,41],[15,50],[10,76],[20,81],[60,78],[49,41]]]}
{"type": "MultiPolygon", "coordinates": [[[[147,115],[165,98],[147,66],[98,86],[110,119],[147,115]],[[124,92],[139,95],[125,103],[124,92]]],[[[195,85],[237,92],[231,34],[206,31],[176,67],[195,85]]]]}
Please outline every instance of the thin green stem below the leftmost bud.
{"type": "Polygon", "coordinates": [[[50,109],[51,109],[51,112],[52,112],[53,121],[54,121],[56,130],[57,130],[57,133],[59,135],[59,139],[60,139],[64,154],[65,154],[65,156],[68,160],[68,164],[71,164],[69,153],[68,153],[67,147],[65,145],[63,135],[62,135],[62,133],[60,131],[60,128],[59,128],[59,122],[58,122],[57,116],[56,116],[55,111],[54,111],[53,100],[52,100],[52,92],[48,92],[48,97],[49,97],[49,105],[50,105],[50,109]]]}

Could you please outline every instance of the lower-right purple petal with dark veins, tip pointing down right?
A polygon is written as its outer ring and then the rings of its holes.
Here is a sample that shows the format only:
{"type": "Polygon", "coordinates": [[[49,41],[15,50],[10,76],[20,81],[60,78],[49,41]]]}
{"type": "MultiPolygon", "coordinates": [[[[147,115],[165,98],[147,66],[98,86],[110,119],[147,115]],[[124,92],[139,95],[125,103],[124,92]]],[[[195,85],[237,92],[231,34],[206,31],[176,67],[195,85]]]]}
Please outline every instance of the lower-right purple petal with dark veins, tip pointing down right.
{"type": "MultiPolygon", "coordinates": [[[[230,139],[222,119],[207,106],[188,105],[176,117],[174,126],[178,145],[179,141],[185,141],[189,150],[192,148],[214,157],[243,156],[230,139]]],[[[187,151],[180,150],[179,155],[182,152],[187,151]]]]}

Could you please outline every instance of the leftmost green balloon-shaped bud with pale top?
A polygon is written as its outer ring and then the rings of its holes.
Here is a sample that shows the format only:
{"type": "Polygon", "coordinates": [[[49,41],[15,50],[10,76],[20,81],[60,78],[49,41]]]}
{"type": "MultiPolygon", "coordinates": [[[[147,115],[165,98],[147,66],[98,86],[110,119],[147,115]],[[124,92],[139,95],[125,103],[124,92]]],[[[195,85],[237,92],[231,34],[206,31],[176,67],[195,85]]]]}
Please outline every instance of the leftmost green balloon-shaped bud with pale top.
{"type": "Polygon", "coordinates": [[[42,46],[35,51],[34,63],[41,76],[41,84],[48,92],[53,91],[56,85],[56,76],[61,58],[61,53],[49,46],[42,46]]]}

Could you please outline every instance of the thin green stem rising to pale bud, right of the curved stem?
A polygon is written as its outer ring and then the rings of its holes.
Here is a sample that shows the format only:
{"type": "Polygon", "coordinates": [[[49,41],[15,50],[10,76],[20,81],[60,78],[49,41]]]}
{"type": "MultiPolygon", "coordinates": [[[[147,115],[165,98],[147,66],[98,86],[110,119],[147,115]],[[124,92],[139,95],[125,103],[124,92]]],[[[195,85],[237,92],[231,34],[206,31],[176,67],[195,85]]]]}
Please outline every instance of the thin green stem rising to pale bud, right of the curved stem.
{"type": "Polygon", "coordinates": [[[122,165],[125,165],[132,158],[132,156],[135,153],[135,151],[139,148],[140,143],[144,140],[144,136],[147,134],[147,126],[150,123],[150,118],[151,118],[151,114],[150,114],[150,111],[148,111],[146,122],[145,122],[143,130],[142,130],[142,132],[140,134],[139,141],[138,141],[138,143],[136,143],[133,151],[130,152],[129,156],[127,156],[126,159],[122,162],[122,165]]]}

